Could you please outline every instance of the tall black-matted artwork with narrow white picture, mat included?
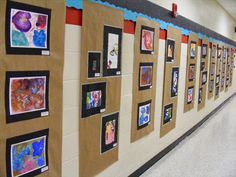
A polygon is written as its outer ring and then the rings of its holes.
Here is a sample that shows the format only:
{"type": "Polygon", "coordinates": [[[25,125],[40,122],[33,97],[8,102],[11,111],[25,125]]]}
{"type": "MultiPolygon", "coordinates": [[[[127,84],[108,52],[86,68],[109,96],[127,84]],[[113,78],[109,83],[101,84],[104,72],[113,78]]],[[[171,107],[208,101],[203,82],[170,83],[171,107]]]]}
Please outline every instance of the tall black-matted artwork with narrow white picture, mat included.
{"type": "Polygon", "coordinates": [[[121,74],[122,29],[104,26],[103,75],[121,74]]]}

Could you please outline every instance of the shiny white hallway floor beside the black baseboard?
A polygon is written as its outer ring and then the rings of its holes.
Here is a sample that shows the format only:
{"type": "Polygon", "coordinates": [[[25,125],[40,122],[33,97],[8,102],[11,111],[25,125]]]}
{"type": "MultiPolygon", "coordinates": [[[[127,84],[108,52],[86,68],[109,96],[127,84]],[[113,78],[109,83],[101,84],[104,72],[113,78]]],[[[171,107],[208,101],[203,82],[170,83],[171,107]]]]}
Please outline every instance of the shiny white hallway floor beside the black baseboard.
{"type": "Polygon", "coordinates": [[[142,177],[236,177],[236,96],[142,177]]]}

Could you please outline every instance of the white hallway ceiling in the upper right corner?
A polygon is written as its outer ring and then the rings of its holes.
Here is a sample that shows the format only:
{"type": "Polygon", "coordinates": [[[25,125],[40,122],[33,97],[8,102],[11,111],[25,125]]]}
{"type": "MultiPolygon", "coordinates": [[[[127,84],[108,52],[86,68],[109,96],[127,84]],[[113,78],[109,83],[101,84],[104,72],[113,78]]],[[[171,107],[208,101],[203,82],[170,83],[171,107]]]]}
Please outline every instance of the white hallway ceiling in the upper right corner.
{"type": "Polygon", "coordinates": [[[236,21],[236,0],[216,0],[236,21]]]}

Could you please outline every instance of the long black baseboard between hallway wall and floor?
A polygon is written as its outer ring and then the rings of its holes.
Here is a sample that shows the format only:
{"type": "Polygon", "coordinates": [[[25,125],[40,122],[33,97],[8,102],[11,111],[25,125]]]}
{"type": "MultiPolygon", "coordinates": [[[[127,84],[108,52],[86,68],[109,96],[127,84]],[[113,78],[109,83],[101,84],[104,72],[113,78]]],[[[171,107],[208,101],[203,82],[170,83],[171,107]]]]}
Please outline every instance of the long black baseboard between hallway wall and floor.
{"type": "Polygon", "coordinates": [[[222,108],[230,99],[232,99],[236,95],[236,92],[233,93],[229,98],[227,98],[223,103],[221,103],[217,108],[211,111],[206,117],[204,117],[200,122],[194,125],[190,130],[180,136],[177,140],[147,161],[144,165],[139,167],[136,171],[129,175],[129,177],[137,177],[143,174],[146,170],[148,170],[151,166],[153,166],[157,161],[159,161],[162,157],[164,157],[168,152],[174,149],[183,139],[187,136],[191,135],[195,130],[197,130],[204,122],[206,122],[212,115],[214,115],[220,108],[222,108]]]}

